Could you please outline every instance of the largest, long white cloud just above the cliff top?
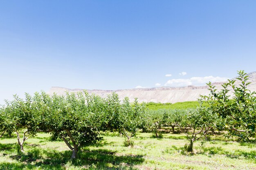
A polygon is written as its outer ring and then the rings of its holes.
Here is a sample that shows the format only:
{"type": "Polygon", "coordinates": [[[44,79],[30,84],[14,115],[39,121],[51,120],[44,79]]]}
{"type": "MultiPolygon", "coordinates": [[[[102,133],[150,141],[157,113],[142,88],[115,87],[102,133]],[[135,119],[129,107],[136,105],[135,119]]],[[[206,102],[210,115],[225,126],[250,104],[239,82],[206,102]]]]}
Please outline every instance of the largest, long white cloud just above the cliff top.
{"type": "Polygon", "coordinates": [[[164,86],[172,86],[172,87],[179,87],[179,86],[204,86],[208,82],[225,82],[228,78],[226,77],[213,77],[213,76],[206,76],[206,77],[191,77],[190,79],[170,79],[168,80],[164,86]]]}

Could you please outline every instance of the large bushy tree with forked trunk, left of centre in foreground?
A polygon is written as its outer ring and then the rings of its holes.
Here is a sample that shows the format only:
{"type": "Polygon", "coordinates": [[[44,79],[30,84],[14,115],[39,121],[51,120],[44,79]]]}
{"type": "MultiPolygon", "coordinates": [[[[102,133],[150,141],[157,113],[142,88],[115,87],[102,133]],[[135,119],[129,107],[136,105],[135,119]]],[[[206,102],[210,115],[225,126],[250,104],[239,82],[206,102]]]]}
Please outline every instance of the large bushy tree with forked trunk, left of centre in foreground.
{"type": "MultiPolygon", "coordinates": [[[[47,104],[46,104],[47,105],[47,104]]],[[[82,93],[66,93],[66,97],[53,95],[51,113],[45,120],[45,129],[54,137],[63,139],[72,150],[72,159],[77,157],[81,147],[99,141],[101,126],[101,98],[82,93]]],[[[47,108],[47,107],[46,107],[47,108]]]]}

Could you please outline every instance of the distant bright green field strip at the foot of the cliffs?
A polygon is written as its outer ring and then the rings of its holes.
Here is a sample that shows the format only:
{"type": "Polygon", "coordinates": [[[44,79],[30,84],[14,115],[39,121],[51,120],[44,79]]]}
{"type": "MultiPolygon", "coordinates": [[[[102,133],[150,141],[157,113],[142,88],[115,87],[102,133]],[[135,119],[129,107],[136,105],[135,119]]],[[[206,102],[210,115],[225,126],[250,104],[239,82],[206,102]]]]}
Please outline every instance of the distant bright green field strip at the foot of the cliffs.
{"type": "MultiPolygon", "coordinates": [[[[158,110],[158,109],[187,109],[187,108],[197,108],[199,106],[198,101],[190,101],[190,102],[177,102],[174,104],[171,103],[154,103],[149,102],[146,103],[146,108],[150,110],[158,110]]],[[[204,102],[204,106],[208,106],[206,102],[204,102]]]]}

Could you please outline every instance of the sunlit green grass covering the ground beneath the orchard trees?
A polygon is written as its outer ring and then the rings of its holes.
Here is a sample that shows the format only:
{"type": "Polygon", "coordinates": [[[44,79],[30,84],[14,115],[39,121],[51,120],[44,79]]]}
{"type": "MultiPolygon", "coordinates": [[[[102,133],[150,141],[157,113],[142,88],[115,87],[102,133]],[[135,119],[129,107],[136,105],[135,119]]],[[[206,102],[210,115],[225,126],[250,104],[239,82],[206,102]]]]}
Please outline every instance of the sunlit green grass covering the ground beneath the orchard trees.
{"type": "Polygon", "coordinates": [[[124,137],[106,132],[103,140],[83,148],[79,158],[61,140],[49,141],[38,133],[18,152],[16,138],[0,139],[1,170],[256,170],[256,144],[238,143],[221,136],[195,142],[195,153],[182,150],[183,134],[164,133],[162,139],[139,133],[133,147],[124,147],[124,137]]]}

